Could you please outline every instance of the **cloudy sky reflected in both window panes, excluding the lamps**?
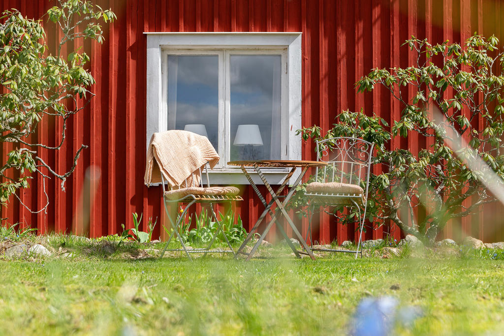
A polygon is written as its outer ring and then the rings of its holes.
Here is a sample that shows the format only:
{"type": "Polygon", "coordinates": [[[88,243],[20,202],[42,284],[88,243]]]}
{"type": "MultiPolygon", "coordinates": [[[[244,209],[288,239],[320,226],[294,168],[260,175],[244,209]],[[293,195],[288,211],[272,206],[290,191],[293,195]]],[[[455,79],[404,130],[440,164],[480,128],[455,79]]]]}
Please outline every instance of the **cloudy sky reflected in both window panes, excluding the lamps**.
{"type": "MultiPolygon", "coordinates": [[[[175,128],[183,129],[185,124],[205,124],[209,140],[217,149],[218,141],[223,137],[219,137],[217,133],[218,56],[168,57],[169,64],[176,64],[177,68],[176,76],[168,77],[168,90],[170,85],[176,85],[175,128]]],[[[232,145],[239,124],[259,125],[264,146],[254,149],[257,152],[256,158],[270,159],[274,153],[279,153],[280,147],[280,129],[275,129],[272,148],[272,124],[274,127],[279,126],[280,55],[232,55],[230,70],[231,160],[242,158],[239,157],[239,151],[243,148],[232,145]],[[278,116],[272,118],[273,113],[278,116]]],[[[169,65],[168,72],[170,71],[173,71],[173,66],[170,69],[169,65]]]]}

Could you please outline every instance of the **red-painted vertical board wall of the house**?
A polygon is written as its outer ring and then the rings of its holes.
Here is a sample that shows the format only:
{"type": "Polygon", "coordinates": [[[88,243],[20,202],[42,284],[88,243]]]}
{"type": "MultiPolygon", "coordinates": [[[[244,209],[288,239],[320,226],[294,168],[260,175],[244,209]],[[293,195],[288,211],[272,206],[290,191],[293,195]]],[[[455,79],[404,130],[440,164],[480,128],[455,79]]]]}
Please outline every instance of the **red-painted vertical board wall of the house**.
{"type": "MultiPolygon", "coordinates": [[[[3,9],[17,8],[38,18],[53,6],[44,1],[3,0],[3,9]]],[[[407,66],[414,56],[401,44],[411,35],[431,42],[461,41],[473,32],[504,36],[500,23],[504,4],[494,0],[102,0],[117,20],[105,26],[103,45],[84,45],[91,55],[91,73],[96,79],[96,96],[69,124],[67,145],[58,153],[41,154],[57,171],[71,165],[81,144],[89,145],[67,182],[66,192],[54,179],[46,185],[50,198],[47,214],[33,215],[13,198],[2,217],[10,223],[47,231],[69,232],[75,219],[85,220],[89,208],[90,235],[102,236],[132,227],[131,213],[144,218],[161,215],[159,187],[143,184],[146,142],[146,37],[143,32],[302,32],[302,123],[321,125],[327,130],[343,109],[364,108],[387,120],[398,118],[399,105],[384,90],[356,94],[354,83],[375,67],[407,66]],[[101,178],[91,183],[91,194],[83,192],[86,169],[99,167],[101,178]],[[84,210],[83,210],[84,209],[84,210]]],[[[46,21],[46,20],[45,20],[46,21]]],[[[49,25],[49,24],[48,24],[49,25]]],[[[48,39],[53,36],[48,35],[48,39]]],[[[54,42],[52,42],[54,43],[54,42]]],[[[44,123],[38,139],[56,142],[61,125],[44,123]]],[[[394,146],[413,150],[425,146],[410,137],[394,146]]],[[[3,147],[3,155],[9,150],[3,147]]],[[[312,144],[303,146],[303,159],[313,159],[312,144]]],[[[97,177],[91,174],[91,177],[97,177]]],[[[32,208],[45,204],[41,180],[20,191],[23,203],[32,208]]],[[[246,226],[262,211],[251,188],[243,186],[244,201],[236,205],[246,226]]],[[[502,211],[489,207],[475,219],[454,223],[445,232],[458,237],[460,229],[486,241],[504,240],[502,211]],[[484,224],[484,225],[483,225],[484,224]]],[[[354,228],[337,225],[327,215],[315,239],[339,242],[352,239],[354,228]]],[[[146,225],[146,222],[144,222],[146,225]]],[[[306,223],[300,223],[306,229],[306,223]]],[[[394,226],[368,230],[366,239],[390,233],[400,238],[394,226]]],[[[159,226],[154,236],[159,236],[159,226]]],[[[271,237],[270,237],[271,238],[271,237]]]]}

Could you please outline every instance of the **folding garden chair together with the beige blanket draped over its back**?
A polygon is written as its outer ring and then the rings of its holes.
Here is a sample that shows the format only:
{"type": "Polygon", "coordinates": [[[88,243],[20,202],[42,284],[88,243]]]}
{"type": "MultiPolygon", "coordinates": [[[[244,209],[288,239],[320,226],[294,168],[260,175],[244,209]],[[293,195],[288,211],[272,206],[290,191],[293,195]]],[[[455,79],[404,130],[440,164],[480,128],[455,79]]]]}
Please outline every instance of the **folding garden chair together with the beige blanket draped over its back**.
{"type": "MultiPolygon", "coordinates": [[[[184,251],[190,259],[190,253],[231,252],[236,256],[225,234],[223,236],[229,250],[211,250],[216,237],[221,231],[223,232],[222,223],[217,218],[213,206],[218,203],[230,205],[233,201],[242,200],[238,195],[239,189],[234,186],[210,186],[208,169],[214,167],[219,159],[219,155],[208,138],[197,133],[167,130],[152,135],[147,149],[144,183],[147,186],[161,183],[164,209],[173,229],[161,257],[168,250],[168,245],[174,236],[178,238],[181,248],[170,249],[170,251],[184,251]],[[203,171],[207,177],[206,187],[203,185],[203,171]],[[174,221],[170,216],[169,208],[176,207],[179,203],[184,206],[184,209],[174,221]],[[179,229],[187,210],[195,203],[208,205],[210,219],[215,221],[217,231],[207,247],[188,250],[179,229]]],[[[230,206],[227,208],[226,216],[231,211],[230,206]]]]}

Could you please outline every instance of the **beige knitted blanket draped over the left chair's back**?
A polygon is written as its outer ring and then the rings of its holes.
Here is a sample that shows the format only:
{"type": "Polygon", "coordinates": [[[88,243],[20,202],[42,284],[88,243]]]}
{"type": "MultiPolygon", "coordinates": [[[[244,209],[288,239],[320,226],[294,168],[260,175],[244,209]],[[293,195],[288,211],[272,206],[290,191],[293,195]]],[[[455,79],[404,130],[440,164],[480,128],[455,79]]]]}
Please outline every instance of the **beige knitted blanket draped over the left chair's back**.
{"type": "Polygon", "coordinates": [[[200,168],[207,162],[213,168],[219,159],[207,137],[185,130],[154,133],[147,149],[144,183],[161,182],[162,173],[170,187],[180,185],[186,178],[191,186],[194,174],[194,184],[198,185],[200,168]]]}

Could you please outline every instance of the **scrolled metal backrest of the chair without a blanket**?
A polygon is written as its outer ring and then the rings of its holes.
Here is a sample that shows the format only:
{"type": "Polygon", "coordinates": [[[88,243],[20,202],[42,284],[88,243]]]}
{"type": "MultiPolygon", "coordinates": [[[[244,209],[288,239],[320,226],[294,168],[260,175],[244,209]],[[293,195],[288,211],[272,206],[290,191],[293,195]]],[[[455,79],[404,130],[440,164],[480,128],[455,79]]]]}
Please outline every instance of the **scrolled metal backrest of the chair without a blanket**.
{"type": "Polygon", "coordinates": [[[328,163],[317,168],[317,181],[357,184],[364,187],[367,196],[374,144],[350,137],[324,139],[316,144],[317,161],[328,163]]]}

